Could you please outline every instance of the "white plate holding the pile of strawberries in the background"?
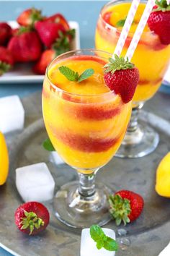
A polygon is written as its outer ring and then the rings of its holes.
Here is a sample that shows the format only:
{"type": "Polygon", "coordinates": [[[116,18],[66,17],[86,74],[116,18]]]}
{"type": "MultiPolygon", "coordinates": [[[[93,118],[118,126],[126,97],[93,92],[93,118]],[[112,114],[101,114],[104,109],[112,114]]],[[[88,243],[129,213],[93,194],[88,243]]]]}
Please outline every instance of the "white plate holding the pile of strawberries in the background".
{"type": "MultiPolygon", "coordinates": [[[[17,28],[16,21],[8,22],[13,28],[17,28]]],[[[75,38],[71,43],[71,50],[80,48],[80,35],[79,35],[79,23],[75,21],[68,22],[71,28],[76,30],[75,38]]],[[[32,72],[32,65],[30,63],[15,64],[14,69],[0,77],[0,83],[19,83],[19,82],[42,82],[44,75],[38,75],[32,72]]]]}

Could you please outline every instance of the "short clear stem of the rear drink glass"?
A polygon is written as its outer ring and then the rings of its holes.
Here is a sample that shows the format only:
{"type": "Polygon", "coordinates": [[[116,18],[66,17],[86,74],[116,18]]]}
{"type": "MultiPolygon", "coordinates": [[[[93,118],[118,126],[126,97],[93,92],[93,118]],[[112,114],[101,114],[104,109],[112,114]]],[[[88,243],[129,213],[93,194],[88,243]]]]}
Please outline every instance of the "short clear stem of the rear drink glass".
{"type": "Polygon", "coordinates": [[[139,115],[140,109],[142,107],[143,107],[143,102],[141,102],[138,105],[135,105],[135,107],[133,107],[132,115],[130,118],[130,123],[128,126],[128,132],[135,132],[136,129],[138,129],[138,115],[139,115]]]}

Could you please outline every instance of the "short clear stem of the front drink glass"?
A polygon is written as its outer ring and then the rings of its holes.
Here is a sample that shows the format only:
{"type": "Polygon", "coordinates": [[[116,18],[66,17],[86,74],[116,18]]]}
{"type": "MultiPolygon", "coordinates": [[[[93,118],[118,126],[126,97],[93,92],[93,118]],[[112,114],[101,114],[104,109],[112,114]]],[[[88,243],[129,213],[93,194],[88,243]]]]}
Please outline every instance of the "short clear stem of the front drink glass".
{"type": "Polygon", "coordinates": [[[81,174],[79,173],[79,194],[83,197],[91,197],[95,194],[95,177],[97,171],[92,174],[81,174]]]}

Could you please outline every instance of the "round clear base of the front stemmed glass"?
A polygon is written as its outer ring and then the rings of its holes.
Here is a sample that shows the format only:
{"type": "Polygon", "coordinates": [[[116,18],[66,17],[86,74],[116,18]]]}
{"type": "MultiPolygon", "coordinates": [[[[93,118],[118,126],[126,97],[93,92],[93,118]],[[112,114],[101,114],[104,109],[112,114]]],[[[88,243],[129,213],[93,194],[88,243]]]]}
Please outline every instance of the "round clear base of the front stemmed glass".
{"type": "Polygon", "coordinates": [[[108,195],[112,191],[104,184],[96,184],[94,195],[84,197],[78,191],[79,182],[61,187],[54,198],[55,216],[73,228],[89,228],[93,224],[103,226],[110,221],[108,195]]]}

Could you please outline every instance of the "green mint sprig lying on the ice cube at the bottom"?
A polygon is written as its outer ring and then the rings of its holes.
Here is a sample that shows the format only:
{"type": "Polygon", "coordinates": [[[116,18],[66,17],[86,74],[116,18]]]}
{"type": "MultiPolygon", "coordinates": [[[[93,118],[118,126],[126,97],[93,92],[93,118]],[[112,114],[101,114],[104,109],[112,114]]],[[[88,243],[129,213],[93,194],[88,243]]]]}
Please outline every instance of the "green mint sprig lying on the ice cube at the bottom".
{"type": "Polygon", "coordinates": [[[115,239],[104,234],[102,228],[98,225],[93,225],[90,227],[90,236],[97,242],[97,249],[107,249],[107,251],[117,251],[118,244],[115,239]]]}

